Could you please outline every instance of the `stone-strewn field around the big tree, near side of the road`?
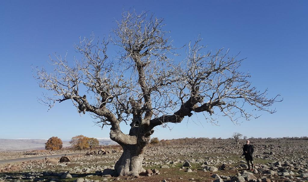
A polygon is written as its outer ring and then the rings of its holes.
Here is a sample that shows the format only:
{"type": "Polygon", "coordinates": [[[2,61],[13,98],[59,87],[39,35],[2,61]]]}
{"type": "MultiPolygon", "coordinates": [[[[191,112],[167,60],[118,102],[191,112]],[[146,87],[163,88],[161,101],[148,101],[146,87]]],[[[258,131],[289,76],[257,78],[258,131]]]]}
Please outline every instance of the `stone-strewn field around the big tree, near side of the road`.
{"type": "MultiPolygon", "coordinates": [[[[227,139],[208,139],[151,146],[145,152],[140,176],[103,175],[112,169],[121,150],[92,152],[62,158],[46,158],[0,166],[2,181],[208,181],[208,182],[293,182],[308,181],[308,140],[254,139],[253,171],[246,170],[242,145],[227,139]],[[96,153],[96,154],[95,154],[96,153]]],[[[32,157],[32,156],[31,156],[32,157]]]]}

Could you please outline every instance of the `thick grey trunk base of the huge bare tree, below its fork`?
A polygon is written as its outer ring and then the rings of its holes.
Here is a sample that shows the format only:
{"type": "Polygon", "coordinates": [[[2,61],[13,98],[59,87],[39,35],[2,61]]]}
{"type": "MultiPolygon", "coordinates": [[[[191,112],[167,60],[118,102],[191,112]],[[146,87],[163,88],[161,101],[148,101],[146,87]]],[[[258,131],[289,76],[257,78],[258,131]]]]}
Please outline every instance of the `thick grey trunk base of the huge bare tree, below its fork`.
{"type": "Polygon", "coordinates": [[[146,146],[125,145],[123,153],[115,163],[115,176],[136,176],[145,172],[142,167],[143,151],[146,146]]]}

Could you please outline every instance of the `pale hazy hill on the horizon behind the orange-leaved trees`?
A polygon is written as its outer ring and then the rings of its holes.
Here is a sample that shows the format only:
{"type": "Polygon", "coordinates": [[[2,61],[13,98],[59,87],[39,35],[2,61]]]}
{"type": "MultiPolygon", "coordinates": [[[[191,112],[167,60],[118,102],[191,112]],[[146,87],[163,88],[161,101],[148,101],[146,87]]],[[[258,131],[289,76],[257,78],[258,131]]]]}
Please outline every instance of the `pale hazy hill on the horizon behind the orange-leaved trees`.
{"type": "MultiPolygon", "coordinates": [[[[40,150],[45,149],[47,140],[43,139],[0,139],[0,151],[5,150],[40,150]]],[[[112,140],[99,140],[99,145],[115,145],[112,140]]],[[[63,147],[69,147],[69,140],[63,140],[63,147]]]]}

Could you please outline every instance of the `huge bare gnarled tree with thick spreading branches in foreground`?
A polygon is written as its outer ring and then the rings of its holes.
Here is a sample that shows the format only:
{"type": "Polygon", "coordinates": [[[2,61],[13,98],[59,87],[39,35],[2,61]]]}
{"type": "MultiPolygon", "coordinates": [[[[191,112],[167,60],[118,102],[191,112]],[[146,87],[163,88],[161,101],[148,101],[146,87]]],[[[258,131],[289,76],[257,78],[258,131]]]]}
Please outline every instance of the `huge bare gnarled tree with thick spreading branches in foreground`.
{"type": "Polygon", "coordinates": [[[73,65],[54,54],[54,70],[35,69],[39,86],[53,94],[41,101],[49,107],[71,100],[79,113],[88,112],[101,127],[110,126],[110,138],[123,147],[115,176],[138,175],[143,152],[156,126],[180,123],[186,116],[203,113],[216,122],[214,112],[232,122],[258,117],[250,111],[274,113],[276,97],[252,87],[249,74],[239,71],[242,59],[229,50],[205,52],[198,38],[186,48],[186,59],[176,61],[162,18],[124,12],[108,40],[80,39],[75,49],[82,58],[73,65]],[[117,58],[108,58],[107,45],[120,47],[117,58]],[[250,110],[249,110],[250,109],[250,110]],[[120,123],[129,124],[128,134],[120,123]]]}

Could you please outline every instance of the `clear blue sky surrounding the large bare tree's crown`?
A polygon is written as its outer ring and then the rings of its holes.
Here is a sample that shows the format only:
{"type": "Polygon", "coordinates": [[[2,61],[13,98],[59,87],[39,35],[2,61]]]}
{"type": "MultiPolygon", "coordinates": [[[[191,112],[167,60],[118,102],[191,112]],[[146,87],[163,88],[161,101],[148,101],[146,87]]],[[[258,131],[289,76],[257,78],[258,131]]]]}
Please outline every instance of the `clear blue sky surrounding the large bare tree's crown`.
{"type": "MultiPolygon", "coordinates": [[[[246,58],[254,86],[281,94],[275,114],[234,125],[219,118],[212,126],[184,120],[173,128],[156,128],[153,137],[228,138],[233,132],[248,137],[306,136],[307,122],[307,1],[2,1],[0,5],[0,138],[68,139],[75,135],[108,138],[109,129],[93,126],[70,102],[49,112],[37,102],[44,91],[32,77],[31,65],[47,66],[52,52],[76,55],[79,36],[108,35],[123,9],[148,10],[164,17],[174,45],[180,47],[199,34],[209,50],[229,47],[246,58]]],[[[112,50],[111,54],[112,54],[112,50]]],[[[111,56],[110,56],[111,57],[111,56]]],[[[128,127],[122,126],[124,131],[128,127]]]]}

